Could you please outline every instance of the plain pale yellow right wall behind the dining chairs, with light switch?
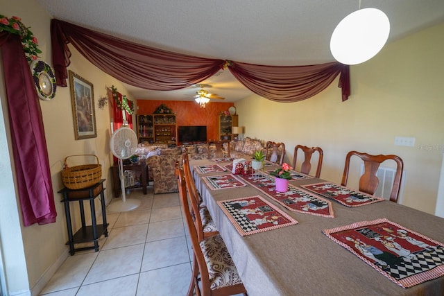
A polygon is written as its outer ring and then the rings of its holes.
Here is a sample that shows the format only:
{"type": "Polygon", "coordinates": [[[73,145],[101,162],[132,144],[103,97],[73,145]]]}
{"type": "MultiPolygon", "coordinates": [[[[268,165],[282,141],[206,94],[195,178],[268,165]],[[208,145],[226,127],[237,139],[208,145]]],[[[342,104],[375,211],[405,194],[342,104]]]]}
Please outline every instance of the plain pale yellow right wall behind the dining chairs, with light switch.
{"type": "MultiPolygon", "coordinates": [[[[320,146],[321,177],[333,182],[341,182],[350,150],[399,155],[406,173],[402,204],[433,214],[444,148],[443,35],[444,24],[428,28],[352,66],[352,96],[345,102],[337,80],[297,103],[259,96],[237,102],[244,136],[283,141],[287,161],[298,143],[320,146]],[[415,146],[395,146],[396,136],[415,137],[415,146]]],[[[349,182],[356,188],[356,178],[349,182]]]]}

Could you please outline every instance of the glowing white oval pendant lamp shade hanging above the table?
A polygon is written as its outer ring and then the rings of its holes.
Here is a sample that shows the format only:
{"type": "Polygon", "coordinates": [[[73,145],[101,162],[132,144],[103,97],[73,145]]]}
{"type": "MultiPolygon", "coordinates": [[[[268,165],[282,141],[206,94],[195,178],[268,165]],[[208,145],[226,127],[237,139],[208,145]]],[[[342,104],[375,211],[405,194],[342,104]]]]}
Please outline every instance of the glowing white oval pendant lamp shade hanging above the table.
{"type": "Polygon", "coordinates": [[[350,13],[339,22],[330,39],[330,51],[342,64],[360,64],[373,58],[384,47],[390,21],[376,8],[350,13]]]}

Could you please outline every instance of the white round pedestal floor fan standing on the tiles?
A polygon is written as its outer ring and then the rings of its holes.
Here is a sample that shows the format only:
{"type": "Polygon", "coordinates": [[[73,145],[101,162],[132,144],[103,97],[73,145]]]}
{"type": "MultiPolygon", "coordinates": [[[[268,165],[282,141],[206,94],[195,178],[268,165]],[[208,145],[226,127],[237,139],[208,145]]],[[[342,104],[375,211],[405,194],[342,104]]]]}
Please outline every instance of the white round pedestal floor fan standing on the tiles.
{"type": "Polygon", "coordinates": [[[122,198],[118,202],[112,202],[109,209],[110,211],[131,211],[139,207],[140,200],[126,198],[123,159],[128,159],[134,155],[135,149],[137,148],[137,135],[130,128],[122,126],[112,133],[110,148],[112,154],[117,157],[119,163],[122,198]]]}

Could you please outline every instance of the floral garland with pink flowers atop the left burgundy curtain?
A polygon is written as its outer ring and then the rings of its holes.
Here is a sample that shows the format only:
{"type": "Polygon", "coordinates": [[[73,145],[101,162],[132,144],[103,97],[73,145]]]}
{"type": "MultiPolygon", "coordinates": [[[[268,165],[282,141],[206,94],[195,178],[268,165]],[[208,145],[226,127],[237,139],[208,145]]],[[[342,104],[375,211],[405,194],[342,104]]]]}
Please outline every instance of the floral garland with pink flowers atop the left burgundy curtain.
{"type": "Polygon", "coordinates": [[[37,38],[34,37],[29,28],[31,27],[26,27],[22,23],[22,19],[19,17],[13,16],[8,18],[4,15],[0,15],[0,32],[5,31],[20,35],[26,60],[32,62],[33,60],[37,60],[38,54],[42,53],[42,51],[38,48],[39,42],[37,41],[37,38]]]}

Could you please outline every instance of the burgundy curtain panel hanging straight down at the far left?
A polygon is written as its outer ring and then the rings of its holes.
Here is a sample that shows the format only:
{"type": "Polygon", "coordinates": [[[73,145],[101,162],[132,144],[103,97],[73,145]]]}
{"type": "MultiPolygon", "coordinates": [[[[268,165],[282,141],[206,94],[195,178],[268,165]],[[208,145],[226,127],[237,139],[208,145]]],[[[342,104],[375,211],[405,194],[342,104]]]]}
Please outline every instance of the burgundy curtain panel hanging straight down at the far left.
{"type": "MultiPolygon", "coordinates": [[[[42,110],[19,35],[0,33],[10,134],[24,225],[56,222],[42,110]]],[[[2,198],[6,198],[3,196],[2,198]]]]}

